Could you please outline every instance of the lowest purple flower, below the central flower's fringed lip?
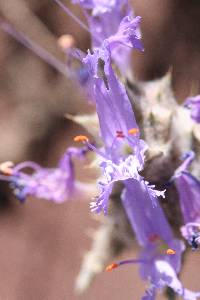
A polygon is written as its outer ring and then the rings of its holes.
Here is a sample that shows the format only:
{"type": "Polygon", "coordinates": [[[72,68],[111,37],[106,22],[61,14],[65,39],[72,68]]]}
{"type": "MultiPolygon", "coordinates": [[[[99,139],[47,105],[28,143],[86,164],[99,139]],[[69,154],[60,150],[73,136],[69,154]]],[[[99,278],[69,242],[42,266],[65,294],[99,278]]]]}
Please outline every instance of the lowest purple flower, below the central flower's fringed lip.
{"type": "Polygon", "coordinates": [[[200,296],[200,293],[185,289],[177,278],[181,253],[185,247],[173,237],[156,195],[148,192],[144,182],[129,179],[125,181],[122,203],[136,238],[143,247],[138,260],[125,263],[139,263],[141,277],[150,280],[150,287],[142,299],[155,299],[156,290],[166,286],[171,287],[183,299],[196,299],[200,296]],[[151,197],[157,202],[155,207],[151,204],[151,197]],[[169,249],[173,249],[173,255],[168,254],[171,253],[167,251],[169,249]]]}

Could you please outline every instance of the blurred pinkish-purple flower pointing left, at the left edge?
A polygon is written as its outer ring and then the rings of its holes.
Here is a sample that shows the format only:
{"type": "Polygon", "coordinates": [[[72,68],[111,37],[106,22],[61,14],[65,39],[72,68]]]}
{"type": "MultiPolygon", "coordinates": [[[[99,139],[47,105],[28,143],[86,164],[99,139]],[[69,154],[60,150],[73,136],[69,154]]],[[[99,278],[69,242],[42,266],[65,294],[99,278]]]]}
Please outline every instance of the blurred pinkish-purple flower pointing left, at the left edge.
{"type": "Polygon", "coordinates": [[[68,148],[56,168],[42,168],[34,162],[23,162],[16,165],[9,176],[1,175],[0,179],[10,181],[16,197],[22,202],[27,196],[35,196],[62,203],[76,189],[72,158],[83,158],[86,151],[86,148],[68,148]],[[25,173],[24,168],[32,169],[33,173],[25,173]]]}

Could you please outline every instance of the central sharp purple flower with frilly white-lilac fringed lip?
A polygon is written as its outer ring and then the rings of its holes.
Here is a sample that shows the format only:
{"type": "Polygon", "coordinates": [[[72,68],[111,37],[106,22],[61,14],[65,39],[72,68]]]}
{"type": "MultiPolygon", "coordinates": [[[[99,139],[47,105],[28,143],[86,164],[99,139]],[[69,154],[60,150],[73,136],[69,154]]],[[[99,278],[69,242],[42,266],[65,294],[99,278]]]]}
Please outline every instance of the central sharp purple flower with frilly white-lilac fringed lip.
{"type": "MultiPolygon", "coordinates": [[[[95,49],[93,54],[89,52],[84,62],[94,80],[97,114],[105,145],[105,151],[101,155],[105,181],[99,182],[100,195],[96,202],[91,203],[91,209],[97,213],[103,209],[106,213],[114,182],[129,178],[142,182],[150,195],[151,205],[155,204],[154,186],[145,182],[138,173],[143,169],[147,146],[139,138],[139,129],[126,90],[112,69],[109,41],[105,41],[101,48],[95,49]],[[135,131],[132,131],[133,129],[135,131]],[[130,135],[131,132],[135,134],[130,135]],[[129,153],[134,155],[127,157],[127,148],[129,153]]],[[[163,192],[160,194],[163,195],[163,192]]]]}

